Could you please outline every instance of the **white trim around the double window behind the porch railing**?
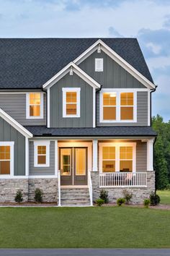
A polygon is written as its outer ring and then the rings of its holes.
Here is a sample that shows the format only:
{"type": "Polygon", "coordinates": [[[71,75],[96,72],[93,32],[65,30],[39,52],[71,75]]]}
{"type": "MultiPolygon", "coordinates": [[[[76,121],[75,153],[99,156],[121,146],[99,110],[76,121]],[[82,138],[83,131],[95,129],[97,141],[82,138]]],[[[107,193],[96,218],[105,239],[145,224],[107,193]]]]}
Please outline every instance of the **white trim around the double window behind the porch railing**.
{"type": "Polygon", "coordinates": [[[120,147],[133,147],[133,173],[136,172],[136,142],[102,142],[99,143],[99,172],[102,173],[102,148],[115,147],[115,172],[120,172],[120,147]]]}

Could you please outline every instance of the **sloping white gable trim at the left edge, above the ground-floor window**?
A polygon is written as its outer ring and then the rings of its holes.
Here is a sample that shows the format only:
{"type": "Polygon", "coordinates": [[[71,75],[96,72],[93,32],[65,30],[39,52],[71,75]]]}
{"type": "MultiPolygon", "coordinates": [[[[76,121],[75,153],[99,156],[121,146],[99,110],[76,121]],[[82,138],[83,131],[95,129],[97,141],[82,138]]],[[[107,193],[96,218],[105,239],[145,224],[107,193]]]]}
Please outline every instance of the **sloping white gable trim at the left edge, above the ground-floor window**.
{"type": "Polygon", "coordinates": [[[22,127],[21,124],[19,124],[16,120],[14,120],[9,114],[7,114],[4,110],[0,108],[0,116],[2,119],[7,121],[14,129],[17,129],[18,132],[20,132],[24,137],[33,137],[32,133],[29,132],[27,129],[22,127]]]}

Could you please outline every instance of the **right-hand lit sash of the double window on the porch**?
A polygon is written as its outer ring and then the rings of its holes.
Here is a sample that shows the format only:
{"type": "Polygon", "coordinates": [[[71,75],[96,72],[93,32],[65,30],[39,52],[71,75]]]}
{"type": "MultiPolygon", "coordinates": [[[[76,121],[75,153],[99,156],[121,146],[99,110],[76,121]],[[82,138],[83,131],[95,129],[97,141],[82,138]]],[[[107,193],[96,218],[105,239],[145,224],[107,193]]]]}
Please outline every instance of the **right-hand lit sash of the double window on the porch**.
{"type": "Polygon", "coordinates": [[[133,147],[120,147],[120,171],[133,171],[133,147]]]}

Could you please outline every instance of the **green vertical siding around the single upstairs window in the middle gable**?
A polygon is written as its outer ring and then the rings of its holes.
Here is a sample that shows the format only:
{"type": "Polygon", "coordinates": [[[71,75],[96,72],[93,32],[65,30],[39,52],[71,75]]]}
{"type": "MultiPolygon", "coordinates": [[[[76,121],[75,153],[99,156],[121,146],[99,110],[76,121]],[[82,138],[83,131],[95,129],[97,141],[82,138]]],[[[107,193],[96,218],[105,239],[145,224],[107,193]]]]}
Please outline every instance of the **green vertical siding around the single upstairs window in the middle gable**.
{"type": "Polygon", "coordinates": [[[93,127],[93,88],[77,74],[66,74],[50,88],[50,127],[93,127]],[[62,88],[81,88],[80,117],[63,118],[62,88]]]}

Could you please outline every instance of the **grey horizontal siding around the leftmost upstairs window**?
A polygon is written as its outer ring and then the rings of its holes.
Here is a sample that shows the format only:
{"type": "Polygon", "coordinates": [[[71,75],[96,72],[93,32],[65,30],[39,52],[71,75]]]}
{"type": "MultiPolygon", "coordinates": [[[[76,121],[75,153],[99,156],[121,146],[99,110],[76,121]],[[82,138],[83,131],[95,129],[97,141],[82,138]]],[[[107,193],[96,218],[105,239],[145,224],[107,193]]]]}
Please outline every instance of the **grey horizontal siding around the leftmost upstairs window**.
{"type": "Polygon", "coordinates": [[[26,119],[26,94],[0,94],[0,108],[22,125],[46,124],[46,95],[44,94],[44,118],[26,119]]]}

